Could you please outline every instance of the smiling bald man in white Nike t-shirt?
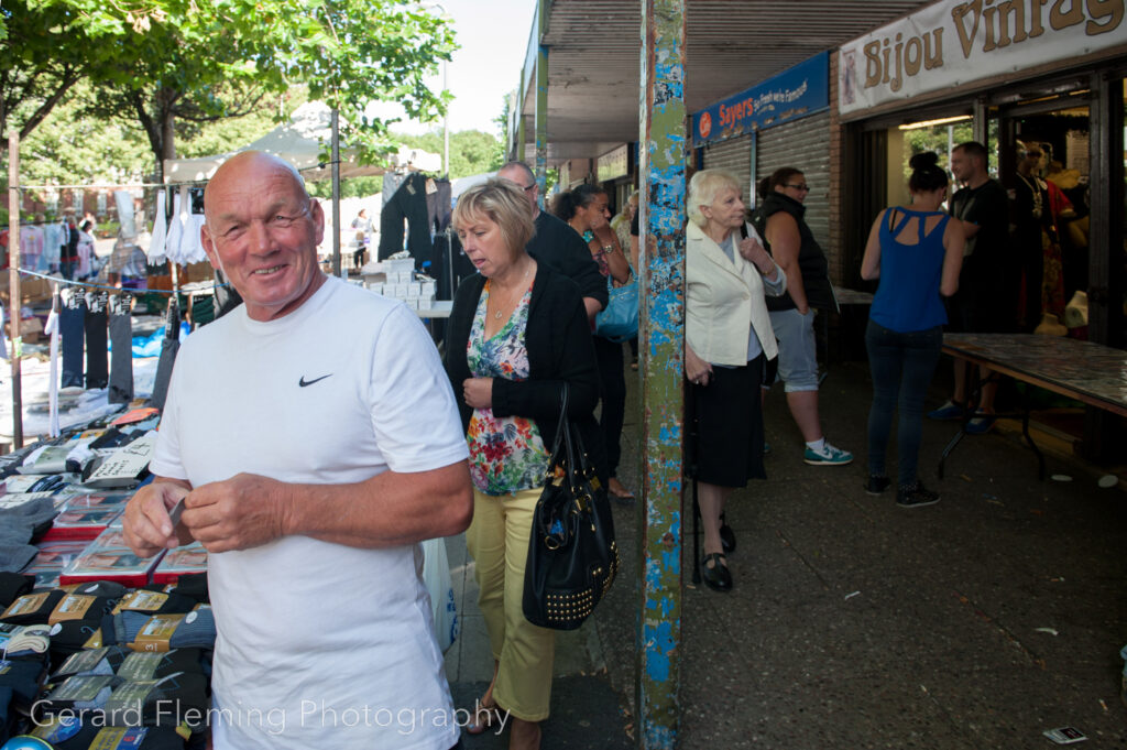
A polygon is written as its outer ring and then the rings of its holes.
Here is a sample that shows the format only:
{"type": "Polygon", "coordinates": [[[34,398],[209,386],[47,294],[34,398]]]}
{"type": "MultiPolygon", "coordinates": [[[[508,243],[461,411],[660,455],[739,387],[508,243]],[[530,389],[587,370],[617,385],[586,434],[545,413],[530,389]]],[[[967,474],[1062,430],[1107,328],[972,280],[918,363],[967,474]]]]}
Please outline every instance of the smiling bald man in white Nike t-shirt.
{"type": "Polygon", "coordinates": [[[438,354],[401,302],[320,271],[325,218],[289,164],[233,157],[205,217],[245,302],[180,348],[125,535],[210,553],[214,748],[456,747],[417,544],[472,513],[438,354]]]}

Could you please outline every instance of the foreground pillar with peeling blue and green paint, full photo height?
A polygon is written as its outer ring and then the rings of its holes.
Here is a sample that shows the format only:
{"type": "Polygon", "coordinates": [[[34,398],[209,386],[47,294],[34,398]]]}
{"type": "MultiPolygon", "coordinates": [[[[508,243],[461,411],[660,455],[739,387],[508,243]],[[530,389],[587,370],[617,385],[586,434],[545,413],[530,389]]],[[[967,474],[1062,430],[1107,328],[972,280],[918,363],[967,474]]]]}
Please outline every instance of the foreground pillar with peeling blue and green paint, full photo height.
{"type": "Polygon", "coordinates": [[[685,319],[685,0],[644,0],[639,175],[642,233],[642,498],[638,747],[672,749],[681,706],[685,319]]]}

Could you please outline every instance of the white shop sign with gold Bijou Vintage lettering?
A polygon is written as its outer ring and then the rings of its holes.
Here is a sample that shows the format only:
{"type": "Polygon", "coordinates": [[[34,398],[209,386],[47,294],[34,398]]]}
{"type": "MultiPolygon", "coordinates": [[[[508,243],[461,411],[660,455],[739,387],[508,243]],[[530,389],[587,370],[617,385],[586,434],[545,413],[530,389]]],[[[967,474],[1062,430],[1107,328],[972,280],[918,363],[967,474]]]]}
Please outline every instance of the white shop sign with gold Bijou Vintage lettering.
{"type": "Polygon", "coordinates": [[[842,115],[1127,43],[1125,0],[937,2],[841,46],[842,115]]]}

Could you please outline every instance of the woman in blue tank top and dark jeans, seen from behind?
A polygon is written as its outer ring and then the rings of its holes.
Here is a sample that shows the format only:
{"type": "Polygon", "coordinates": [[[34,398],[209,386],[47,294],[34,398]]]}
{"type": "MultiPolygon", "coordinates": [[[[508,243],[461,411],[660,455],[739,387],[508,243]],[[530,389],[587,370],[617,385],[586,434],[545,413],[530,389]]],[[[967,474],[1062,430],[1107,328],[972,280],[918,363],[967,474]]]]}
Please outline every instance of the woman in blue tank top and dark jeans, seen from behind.
{"type": "Polygon", "coordinates": [[[885,455],[899,405],[896,431],[898,459],[896,502],[920,508],[939,501],[916,476],[923,402],[939,362],[947,311],[943,297],[959,285],[962,222],[941,210],[947,197],[947,171],[933,152],[917,153],[909,162],[908,206],[885,209],[872,223],[861,261],[862,279],[879,279],[864,342],[872,371],[869,409],[870,495],[888,485],[885,455]]]}

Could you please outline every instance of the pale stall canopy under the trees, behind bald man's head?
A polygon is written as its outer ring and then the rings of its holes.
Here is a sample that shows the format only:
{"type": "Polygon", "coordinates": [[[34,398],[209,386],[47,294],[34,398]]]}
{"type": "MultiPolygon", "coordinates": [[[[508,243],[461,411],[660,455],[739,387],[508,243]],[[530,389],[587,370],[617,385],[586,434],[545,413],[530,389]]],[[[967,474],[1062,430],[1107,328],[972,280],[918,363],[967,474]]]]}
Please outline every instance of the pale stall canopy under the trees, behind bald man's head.
{"type": "MultiPolygon", "coordinates": [[[[295,166],[305,179],[328,179],[331,177],[329,165],[320,160],[321,144],[326,148],[331,139],[332,112],[321,102],[309,102],[294,111],[289,123],[278,125],[266,135],[252,143],[212,157],[195,159],[166,159],[166,183],[190,183],[210,179],[220,165],[240,151],[265,151],[281,157],[295,166]]],[[[390,166],[362,165],[355,160],[355,155],[341,149],[340,177],[364,177],[382,175],[389,169],[412,169],[416,171],[442,170],[442,157],[419,149],[401,147],[391,157],[390,166]]]]}

